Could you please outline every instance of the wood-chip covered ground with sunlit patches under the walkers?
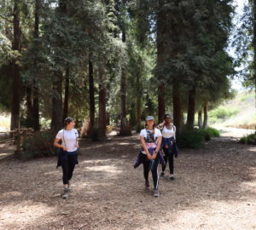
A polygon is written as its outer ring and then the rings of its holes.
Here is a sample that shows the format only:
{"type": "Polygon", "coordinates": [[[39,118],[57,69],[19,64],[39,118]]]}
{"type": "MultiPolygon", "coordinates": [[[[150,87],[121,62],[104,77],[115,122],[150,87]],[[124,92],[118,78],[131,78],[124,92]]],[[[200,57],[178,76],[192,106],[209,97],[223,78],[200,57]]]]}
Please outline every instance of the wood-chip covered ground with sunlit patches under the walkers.
{"type": "Polygon", "coordinates": [[[143,166],[132,167],[137,135],[80,147],[67,200],[56,158],[0,160],[0,229],[256,229],[255,146],[220,137],[180,150],[160,198],[152,180],[145,191],[143,166]]]}

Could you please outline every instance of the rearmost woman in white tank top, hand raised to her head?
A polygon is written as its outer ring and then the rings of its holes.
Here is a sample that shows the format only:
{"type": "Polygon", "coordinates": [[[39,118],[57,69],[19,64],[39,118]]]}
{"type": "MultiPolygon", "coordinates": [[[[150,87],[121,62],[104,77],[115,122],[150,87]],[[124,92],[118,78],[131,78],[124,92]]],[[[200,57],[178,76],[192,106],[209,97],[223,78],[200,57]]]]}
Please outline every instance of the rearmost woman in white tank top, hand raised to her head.
{"type": "MultiPolygon", "coordinates": [[[[172,118],[170,114],[166,114],[164,116],[164,122],[158,125],[158,128],[162,130],[163,141],[162,141],[162,149],[165,152],[165,161],[166,164],[169,161],[169,170],[170,176],[169,179],[171,181],[175,180],[174,177],[174,158],[173,155],[177,158],[177,152],[173,151],[174,149],[174,142],[176,139],[176,127],[172,124],[172,118]],[[174,153],[175,152],[175,153],[174,153]]],[[[165,175],[166,164],[162,164],[162,173],[161,176],[165,175]]]]}

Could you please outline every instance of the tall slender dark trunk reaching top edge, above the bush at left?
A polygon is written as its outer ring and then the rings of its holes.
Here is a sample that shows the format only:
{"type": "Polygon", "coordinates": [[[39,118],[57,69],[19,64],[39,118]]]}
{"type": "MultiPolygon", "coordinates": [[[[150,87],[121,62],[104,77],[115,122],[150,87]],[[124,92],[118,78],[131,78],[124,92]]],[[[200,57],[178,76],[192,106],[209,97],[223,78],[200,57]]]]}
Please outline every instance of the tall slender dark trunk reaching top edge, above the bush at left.
{"type": "MultiPolygon", "coordinates": [[[[34,24],[34,39],[35,43],[38,43],[38,32],[39,32],[39,0],[35,2],[35,24],[34,24]]],[[[35,60],[35,66],[37,66],[35,60]]],[[[32,101],[33,101],[33,129],[39,130],[40,129],[40,122],[39,122],[39,88],[38,88],[38,78],[33,81],[32,87],[32,101]]]]}

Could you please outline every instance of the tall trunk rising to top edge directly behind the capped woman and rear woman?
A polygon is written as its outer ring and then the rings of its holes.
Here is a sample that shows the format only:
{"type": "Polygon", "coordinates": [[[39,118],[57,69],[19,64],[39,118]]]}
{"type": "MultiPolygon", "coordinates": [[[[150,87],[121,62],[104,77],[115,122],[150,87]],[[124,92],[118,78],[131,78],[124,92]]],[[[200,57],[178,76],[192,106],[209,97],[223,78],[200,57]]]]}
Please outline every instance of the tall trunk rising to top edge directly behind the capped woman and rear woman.
{"type": "MultiPolygon", "coordinates": [[[[160,6],[159,9],[163,9],[163,1],[159,1],[160,6]]],[[[165,34],[165,14],[159,10],[157,14],[157,21],[156,21],[156,48],[157,48],[157,66],[161,68],[163,61],[164,61],[164,37],[165,34]]],[[[163,83],[163,76],[157,74],[157,79],[159,80],[158,86],[158,122],[161,123],[163,121],[165,112],[166,112],[166,105],[165,105],[165,84],[163,83]]],[[[148,114],[153,115],[153,114],[148,114]]]]}

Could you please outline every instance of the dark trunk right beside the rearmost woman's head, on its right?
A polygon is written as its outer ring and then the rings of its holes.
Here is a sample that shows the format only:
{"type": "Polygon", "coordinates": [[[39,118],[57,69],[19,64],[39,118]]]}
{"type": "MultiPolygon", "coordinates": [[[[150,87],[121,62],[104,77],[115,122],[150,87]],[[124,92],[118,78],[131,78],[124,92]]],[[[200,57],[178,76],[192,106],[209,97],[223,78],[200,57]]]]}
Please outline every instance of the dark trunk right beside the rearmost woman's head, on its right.
{"type": "Polygon", "coordinates": [[[177,135],[183,126],[183,112],[180,100],[180,89],[178,83],[173,80],[172,83],[172,101],[173,101],[173,124],[176,126],[177,135]]]}

